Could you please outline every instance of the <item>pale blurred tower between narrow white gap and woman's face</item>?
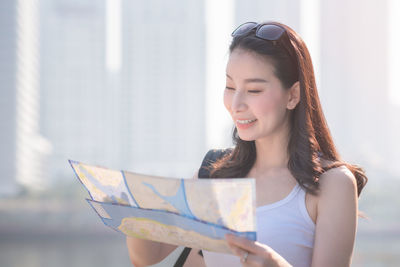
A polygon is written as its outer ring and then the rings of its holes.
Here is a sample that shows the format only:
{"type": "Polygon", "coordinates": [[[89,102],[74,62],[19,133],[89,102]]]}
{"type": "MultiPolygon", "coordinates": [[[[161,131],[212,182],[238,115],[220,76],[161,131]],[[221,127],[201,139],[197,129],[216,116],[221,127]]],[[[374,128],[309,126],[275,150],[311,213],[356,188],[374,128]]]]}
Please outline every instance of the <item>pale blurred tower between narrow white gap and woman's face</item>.
{"type": "Polygon", "coordinates": [[[122,1],[124,166],[192,175],[205,152],[203,1],[122,1]]]}

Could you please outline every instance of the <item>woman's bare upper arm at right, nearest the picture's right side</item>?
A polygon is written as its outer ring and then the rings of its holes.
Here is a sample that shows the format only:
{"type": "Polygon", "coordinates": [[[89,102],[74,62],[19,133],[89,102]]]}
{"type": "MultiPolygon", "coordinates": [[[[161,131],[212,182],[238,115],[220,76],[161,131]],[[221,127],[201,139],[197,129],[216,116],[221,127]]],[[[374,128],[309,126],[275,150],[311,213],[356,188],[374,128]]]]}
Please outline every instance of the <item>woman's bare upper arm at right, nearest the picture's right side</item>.
{"type": "Polygon", "coordinates": [[[346,167],[321,175],[312,266],[350,266],[357,228],[357,183],[346,167]]]}

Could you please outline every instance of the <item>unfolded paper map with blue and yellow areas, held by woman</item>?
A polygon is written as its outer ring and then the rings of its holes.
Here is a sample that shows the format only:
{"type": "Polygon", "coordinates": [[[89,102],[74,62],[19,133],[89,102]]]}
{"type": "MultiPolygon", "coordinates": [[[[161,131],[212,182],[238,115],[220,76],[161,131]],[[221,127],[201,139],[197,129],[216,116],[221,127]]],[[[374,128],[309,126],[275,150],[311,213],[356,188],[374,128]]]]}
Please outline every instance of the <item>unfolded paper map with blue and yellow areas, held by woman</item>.
{"type": "Polygon", "coordinates": [[[231,253],[225,234],[256,240],[255,181],[177,179],[69,161],[103,223],[127,236],[231,253]]]}

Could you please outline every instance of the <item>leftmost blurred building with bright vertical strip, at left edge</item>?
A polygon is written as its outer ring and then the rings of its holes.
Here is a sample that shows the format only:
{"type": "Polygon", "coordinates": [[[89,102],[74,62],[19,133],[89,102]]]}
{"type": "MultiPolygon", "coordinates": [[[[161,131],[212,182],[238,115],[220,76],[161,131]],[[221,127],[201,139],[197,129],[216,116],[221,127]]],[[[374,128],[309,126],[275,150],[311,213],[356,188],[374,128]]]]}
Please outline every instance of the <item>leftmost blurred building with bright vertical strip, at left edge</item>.
{"type": "Polygon", "coordinates": [[[38,1],[1,3],[1,191],[41,190],[49,142],[40,135],[38,1]],[[18,186],[17,186],[18,184],[18,186]]]}

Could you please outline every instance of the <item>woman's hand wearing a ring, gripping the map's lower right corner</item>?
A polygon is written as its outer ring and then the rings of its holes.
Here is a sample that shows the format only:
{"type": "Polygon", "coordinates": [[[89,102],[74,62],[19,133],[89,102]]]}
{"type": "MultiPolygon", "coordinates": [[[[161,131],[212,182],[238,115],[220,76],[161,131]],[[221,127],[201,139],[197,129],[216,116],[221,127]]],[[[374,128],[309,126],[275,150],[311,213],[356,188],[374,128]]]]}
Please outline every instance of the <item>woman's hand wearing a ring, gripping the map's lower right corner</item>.
{"type": "Polygon", "coordinates": [[[233,254],[240,257],[243,266],[292,266],[281,255],[265,244],[231,234],[225,235],[233,254]]]}

